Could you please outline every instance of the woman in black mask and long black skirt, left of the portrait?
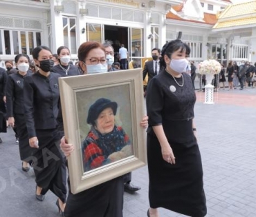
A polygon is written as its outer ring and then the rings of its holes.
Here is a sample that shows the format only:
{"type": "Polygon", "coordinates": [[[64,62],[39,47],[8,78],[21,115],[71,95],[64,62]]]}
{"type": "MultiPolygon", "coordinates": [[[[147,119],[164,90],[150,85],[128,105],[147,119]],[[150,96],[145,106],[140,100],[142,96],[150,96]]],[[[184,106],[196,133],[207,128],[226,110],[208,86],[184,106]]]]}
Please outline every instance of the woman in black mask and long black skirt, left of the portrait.
{"type": "Polygon", "coordinates": [[[58,197],[60,211],[66,201],[66,164],[57,131],[60,74],[51,72],[53,54],[49,48],[39,46],[32,54],[39,71],[24,79],[24,110],[29,145],[33,147],[36,198],[44,200],[50,189],[58,197]]]}

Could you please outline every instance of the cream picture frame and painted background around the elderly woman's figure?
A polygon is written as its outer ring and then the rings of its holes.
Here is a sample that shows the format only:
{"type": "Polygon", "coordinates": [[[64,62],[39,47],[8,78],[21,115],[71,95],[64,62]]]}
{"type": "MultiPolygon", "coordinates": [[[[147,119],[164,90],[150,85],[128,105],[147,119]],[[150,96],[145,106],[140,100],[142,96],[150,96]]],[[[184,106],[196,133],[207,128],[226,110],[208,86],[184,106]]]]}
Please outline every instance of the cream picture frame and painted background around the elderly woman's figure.
{"type": "Polygon", "coordinates": [[[75,151],[68,157],[73,194],[146,165],[146,133],[140,127],[145,115],[142,80],[141,69],[59,79],[65,137],[68,143],[75,145],[75,151]],[[117,103],[115,125],[121,126],[129,136],[132,152],[122,159],[86,171],[84,143],[90,132],[86,119],[91,105],[102,98],[117,103]]]}

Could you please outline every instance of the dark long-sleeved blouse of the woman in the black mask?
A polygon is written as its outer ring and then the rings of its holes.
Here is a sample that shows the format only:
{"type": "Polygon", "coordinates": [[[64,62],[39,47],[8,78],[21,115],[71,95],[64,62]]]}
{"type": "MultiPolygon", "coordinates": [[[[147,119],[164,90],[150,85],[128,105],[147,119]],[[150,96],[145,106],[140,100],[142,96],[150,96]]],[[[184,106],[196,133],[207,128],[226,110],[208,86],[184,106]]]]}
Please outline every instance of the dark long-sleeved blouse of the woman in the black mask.
{"type": "Polygon", "coordinates": [[[39,72],[24,79],[24,112],[28,136],[36,136],[36,130],[55,129],[59,112],[60,74],[46,77],[39,72]]]}

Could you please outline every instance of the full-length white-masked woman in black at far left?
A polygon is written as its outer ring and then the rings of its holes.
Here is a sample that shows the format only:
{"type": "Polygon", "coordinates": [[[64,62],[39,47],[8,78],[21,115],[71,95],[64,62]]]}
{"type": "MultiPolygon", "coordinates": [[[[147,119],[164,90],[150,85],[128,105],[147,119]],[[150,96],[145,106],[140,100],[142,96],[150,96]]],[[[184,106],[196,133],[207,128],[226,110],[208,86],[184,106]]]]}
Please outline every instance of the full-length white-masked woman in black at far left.
{"type": "Polygon", "coordinates": [[[32,73],[28,72],[29,57],[26,54],[15,56],[18,72],[10,74],[6,84],[6,106],[9,125],[15,129],[19,138],[19,155],[22,161],[22,170],[28,172],[31,161],[32,148],[28,143],[28,130],[24,117],[23,87],[24,78],[32,73]]]}

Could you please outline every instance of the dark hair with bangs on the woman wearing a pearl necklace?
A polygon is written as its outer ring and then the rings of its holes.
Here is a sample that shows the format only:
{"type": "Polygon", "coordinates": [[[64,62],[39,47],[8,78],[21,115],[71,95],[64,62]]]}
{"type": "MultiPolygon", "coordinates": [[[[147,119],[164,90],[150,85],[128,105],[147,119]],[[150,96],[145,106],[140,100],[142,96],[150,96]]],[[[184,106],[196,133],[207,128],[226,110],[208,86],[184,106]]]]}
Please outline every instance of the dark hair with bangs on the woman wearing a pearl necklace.
{"type": "Polygon", "coordinates": [[[185,54],[190,55],[190,47],[180,39],[176,39],[174,41],[170,41],[169,43],[165,43],[165,45],[163,45],[161,58],[160,58],[161,67],[164,67],[164,68],[166,67],[166,63],[164,60],[165,55],[167,55],[171,59],[172,54],[175,51],[180,49],[181,49],[181,52],[185,50],[185,54]]]}

